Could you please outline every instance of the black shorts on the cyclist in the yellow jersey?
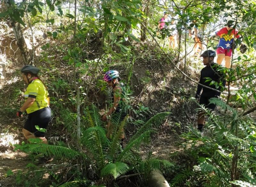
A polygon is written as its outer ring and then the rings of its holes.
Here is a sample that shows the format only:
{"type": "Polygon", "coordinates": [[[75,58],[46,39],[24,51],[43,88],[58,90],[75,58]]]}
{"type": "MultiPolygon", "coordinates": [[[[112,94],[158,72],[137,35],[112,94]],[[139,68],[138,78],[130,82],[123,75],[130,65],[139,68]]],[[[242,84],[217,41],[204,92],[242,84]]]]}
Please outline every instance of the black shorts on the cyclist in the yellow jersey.
{"type": "Polygon", "coordinates": [[[38,131],[35,126],[46,129],[50,120],[51,109],[49,107],[42,108],[28,114],[24,129],[33,133],[35,137],[44,137],[45,133],[38,131]]]}

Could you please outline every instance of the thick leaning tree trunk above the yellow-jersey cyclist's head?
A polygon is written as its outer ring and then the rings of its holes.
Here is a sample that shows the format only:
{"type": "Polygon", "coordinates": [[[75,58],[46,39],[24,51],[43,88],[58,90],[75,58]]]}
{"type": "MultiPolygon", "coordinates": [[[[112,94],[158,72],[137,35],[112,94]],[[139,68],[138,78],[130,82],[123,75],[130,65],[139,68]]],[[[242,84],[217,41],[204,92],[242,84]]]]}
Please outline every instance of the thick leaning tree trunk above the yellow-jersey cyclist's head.
{"type": "MultiPolygon", "coordinates": [[[[11,3],[10,3],[10,0],[5,0],[5,5],[7,7],[12,6],[11,3]]],[[[14,32],[14,35],[15,35],[17,45],[20,49],[20,54],[21,54],[22,60],[23,60],[25,65],[31,64],[31,62],[32,62],[31,54],[30,54],[29,49],[27,47],[27,44],[24,40],[23,33],[22,33],[22,30],[21,30],[21,26],[18,22],[13,20],[13,18],[11,16],[9,16],[9,18],[10,18],[10,21],[11,21],[11,26],[12,26],[12,29],[13,29],[13,32],[14,32]]]]}

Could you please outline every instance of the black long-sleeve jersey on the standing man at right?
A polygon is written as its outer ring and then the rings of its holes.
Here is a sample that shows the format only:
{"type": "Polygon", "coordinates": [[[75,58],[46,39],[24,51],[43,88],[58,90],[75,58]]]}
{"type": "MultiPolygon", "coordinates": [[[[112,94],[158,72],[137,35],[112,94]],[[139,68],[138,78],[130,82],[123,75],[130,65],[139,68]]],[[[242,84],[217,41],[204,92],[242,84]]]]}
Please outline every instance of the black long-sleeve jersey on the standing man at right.
{"type": "MultiPolygon", "coordinates": [[[[219,65],[217,63],[212,63],[211,67],[210,66],[205,66],[201,70],[199,83],[201,83],[205,86],[208,86],[210,88],[216,89],[215,84],[210,85],[210,83],[212,81],[215,81],[215,82],[218,82],[218,83],[222,82],[222,85],[225,87],[226,80],[224,79],[224,74],[218,70],[218,67],[219,67],[219,65]],[[207,80],[206,77],[211,78],[212,81],[208,81],[208,82],[205,83],[205,81],[207,80]]],[[[220,96],[220,92],[211,90],[209,88],[205,88],[205,87],[203,87],[199,84],[197,85],[196,94],[200,95],[200,92],[201,92],[202,89],[203,89],[202,96],[207,96],[207,97],[220,96]]],[[[221,87],[219,87],[216,90],[220,90],[220,89],[221,89],[221,87]]]]}

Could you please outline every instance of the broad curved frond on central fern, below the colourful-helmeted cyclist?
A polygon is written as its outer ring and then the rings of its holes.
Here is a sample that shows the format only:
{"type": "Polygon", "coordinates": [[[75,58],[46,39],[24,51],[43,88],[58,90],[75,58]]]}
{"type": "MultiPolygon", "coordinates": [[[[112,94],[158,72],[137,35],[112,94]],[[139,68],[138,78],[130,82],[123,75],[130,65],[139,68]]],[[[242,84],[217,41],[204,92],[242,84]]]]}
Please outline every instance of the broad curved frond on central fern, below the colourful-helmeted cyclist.
{"type": "Polygon", "coordinates": [[[105,162],[103,148],[108,143],[105,130],[100,126],[89,127],[83,134],[82,142],[93,154],[99,169],[101,169],[105,162]]]}

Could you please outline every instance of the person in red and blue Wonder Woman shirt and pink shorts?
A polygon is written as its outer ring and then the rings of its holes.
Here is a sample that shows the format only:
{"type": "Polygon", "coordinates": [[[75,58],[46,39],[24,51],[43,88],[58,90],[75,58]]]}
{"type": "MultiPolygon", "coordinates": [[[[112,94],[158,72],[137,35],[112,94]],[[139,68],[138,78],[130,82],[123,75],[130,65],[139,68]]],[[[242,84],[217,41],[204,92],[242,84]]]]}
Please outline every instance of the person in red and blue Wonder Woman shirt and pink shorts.
{"type": "Polygon", "coordinates": [[[240,38],[238,31],[233,29],[232,24],[228,24],[226,27],[216,32],[217,36],[220,36],[219,43],[217,45],[217,63],[220,65],[225,58],[225,67],[230,68],[231,56],[232,56],[232,44],[234,38],[240,38]],[[231,30],[232,29],[232,30],[231,30]],[[231,30],[231,32],[229,32],[231,30]]]}

